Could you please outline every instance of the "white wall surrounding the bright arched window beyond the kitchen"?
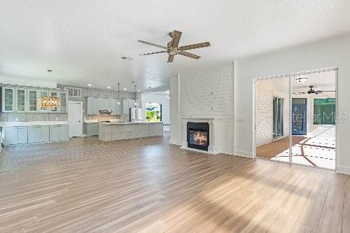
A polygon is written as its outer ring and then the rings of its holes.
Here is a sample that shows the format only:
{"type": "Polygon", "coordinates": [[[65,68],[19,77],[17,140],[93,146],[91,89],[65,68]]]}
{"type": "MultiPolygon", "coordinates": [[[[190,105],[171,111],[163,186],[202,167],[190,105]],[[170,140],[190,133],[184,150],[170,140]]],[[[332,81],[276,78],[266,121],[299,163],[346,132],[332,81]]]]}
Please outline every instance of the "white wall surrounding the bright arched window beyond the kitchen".
{"type": "Polygon", "coordinates": [[[142,120],[146,121],[146,103],[162,104],[162,122],[169,125],[169,98],[163,94],[141,94],[142,120]]]}

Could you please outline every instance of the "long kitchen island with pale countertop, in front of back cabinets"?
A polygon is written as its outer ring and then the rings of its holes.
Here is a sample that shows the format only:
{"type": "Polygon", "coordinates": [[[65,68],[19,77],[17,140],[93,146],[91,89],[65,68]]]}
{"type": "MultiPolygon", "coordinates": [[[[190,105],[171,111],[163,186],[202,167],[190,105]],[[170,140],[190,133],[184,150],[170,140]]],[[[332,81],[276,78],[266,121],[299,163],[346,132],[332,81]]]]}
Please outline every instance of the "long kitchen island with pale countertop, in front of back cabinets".
{"type": "Polygon", "coordinates": [[[116,141],[162,136],[162,122],[104,122],[99,124],[99,140],[116,141]]]}

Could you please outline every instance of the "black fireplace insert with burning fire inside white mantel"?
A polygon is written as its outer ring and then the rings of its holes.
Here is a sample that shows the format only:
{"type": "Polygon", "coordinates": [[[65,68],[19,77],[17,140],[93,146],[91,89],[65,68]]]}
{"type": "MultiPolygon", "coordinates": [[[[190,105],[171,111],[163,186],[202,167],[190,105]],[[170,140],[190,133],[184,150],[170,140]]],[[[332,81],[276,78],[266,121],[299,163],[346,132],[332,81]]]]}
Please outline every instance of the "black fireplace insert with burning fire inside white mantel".
{"type": "Polygon", "coordinates": [[[209,123],[187,122],[187,147],[207,150],[209,146],[209,123]]]}

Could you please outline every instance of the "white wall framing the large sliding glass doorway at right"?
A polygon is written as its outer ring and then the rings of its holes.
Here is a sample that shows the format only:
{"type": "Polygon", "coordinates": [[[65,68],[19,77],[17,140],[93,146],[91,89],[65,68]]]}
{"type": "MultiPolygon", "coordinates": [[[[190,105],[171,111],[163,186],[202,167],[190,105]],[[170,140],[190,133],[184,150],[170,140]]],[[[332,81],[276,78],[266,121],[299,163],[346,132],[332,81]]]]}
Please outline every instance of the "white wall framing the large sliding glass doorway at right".
{"type": "MultiPolygon", "coordinates": [[[[350,36],[246,57],[235,62],[236,153],[253,151],[253,79],[326,67],[339,67],[339,111],[350,112],[350,36]],[[243,121],[243,122],[241,122],[243,121]]],[[[350,174],[350,121],[338,123],[338,171],[350,174]]]]}

